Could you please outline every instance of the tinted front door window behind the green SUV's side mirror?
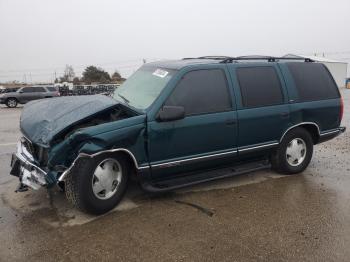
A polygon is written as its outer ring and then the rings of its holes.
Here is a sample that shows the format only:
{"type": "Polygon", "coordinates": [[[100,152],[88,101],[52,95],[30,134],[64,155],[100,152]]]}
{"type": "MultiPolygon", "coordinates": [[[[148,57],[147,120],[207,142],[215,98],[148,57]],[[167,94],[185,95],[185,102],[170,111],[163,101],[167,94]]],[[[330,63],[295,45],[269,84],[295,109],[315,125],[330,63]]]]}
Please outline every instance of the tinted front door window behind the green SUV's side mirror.
{"type": "Polygon", "coordinates": [[[231,110],[231,97],[224,71],[196,70],[185,74],[165,104],[183,106],[186,115],[231,110]]]}

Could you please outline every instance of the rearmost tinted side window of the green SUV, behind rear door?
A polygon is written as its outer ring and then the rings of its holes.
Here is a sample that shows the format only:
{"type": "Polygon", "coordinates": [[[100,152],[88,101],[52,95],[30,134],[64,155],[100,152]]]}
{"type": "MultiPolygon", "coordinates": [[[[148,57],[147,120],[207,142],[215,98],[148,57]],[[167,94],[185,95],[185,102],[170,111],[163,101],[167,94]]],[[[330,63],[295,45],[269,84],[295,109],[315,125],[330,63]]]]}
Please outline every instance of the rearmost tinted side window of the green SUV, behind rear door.
{"type": "Polygon", "coordinates": [[[331,74],[319,63],[287,63],[298,92],[298,101],[338,98],[338,87],[331,74]]]}

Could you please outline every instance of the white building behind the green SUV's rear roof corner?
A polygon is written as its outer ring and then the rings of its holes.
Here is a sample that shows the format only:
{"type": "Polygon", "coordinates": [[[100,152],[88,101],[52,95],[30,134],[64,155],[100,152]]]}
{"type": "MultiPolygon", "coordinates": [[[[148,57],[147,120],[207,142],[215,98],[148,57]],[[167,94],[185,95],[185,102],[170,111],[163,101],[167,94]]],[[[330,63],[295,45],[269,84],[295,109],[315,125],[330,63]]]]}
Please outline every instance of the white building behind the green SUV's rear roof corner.
{"type": "Polygon", "coordinates": [[[320,56],[304,56],[304,55],[288,54],[288,55],[285,55],[285,57],[309,58],[316,62],[322,63],[328,67],[328,70],[333,75],[334,80],[337,83],[338,87],[345,86],[345,79],[347,78],[347,71],[348,71],[347,62],[332,60],[332,59],[328,59],[320,56]]]}

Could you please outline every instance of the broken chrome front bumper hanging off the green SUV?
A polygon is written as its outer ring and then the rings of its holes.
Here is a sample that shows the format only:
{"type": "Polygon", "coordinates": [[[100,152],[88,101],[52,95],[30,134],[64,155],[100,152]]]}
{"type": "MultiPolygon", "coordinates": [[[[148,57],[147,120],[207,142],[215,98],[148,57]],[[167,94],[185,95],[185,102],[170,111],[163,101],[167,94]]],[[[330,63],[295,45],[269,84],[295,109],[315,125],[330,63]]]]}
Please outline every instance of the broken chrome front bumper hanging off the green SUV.
{"type": "Polygon", "coordinates": [[[12,154],[10,174],[35,190],[47,185],[47,172],[34,163],[33,156],[21,142],[17,144],[17,152],[12,154]]]}

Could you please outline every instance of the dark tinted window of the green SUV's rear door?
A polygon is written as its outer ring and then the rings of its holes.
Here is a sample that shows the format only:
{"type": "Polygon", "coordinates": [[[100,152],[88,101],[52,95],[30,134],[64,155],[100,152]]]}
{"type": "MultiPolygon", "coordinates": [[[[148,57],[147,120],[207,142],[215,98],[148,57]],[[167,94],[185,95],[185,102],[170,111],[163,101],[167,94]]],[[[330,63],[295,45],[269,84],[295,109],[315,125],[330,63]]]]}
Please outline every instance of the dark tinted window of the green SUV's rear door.
{"type": "Polygon", "coordinates": [[[241,67],[236,72],[245,108],[283,103],[281,82],[273,67],[241,67]]]}

